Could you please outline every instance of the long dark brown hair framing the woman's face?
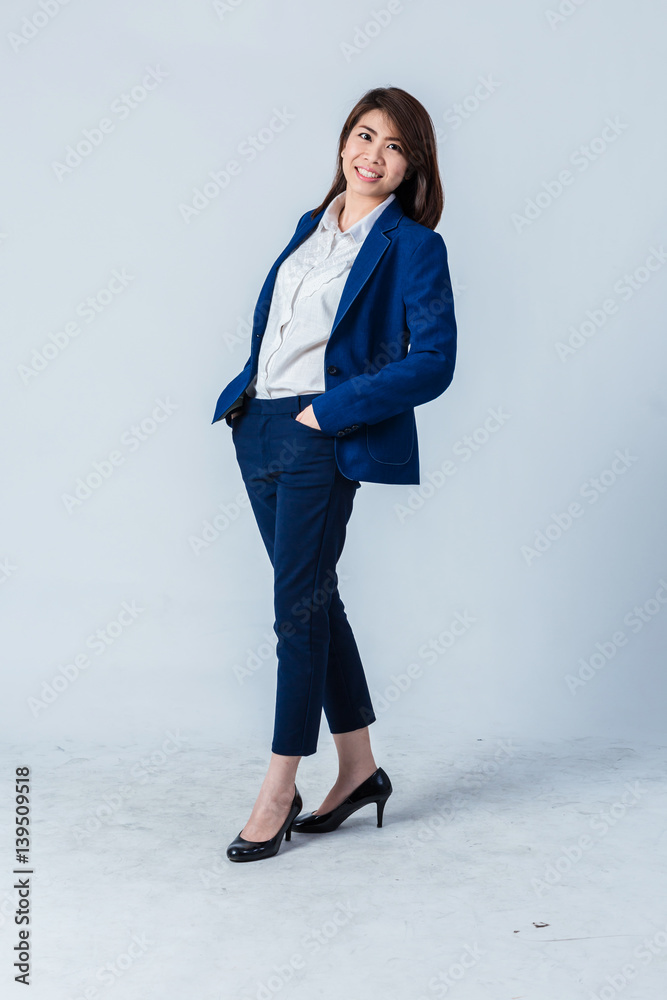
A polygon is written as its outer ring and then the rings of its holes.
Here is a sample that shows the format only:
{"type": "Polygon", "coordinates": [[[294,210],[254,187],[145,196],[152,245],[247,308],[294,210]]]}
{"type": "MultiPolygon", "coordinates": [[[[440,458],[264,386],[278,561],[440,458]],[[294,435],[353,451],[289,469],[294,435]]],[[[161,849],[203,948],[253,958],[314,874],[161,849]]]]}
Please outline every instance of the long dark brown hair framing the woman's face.
{"type": "Polygon", "coordinates": [[[405,178],[394,194],[406,215],[435,229],[442,216],[445,197],[438,169],[435,128],[423,104],[399,87],[374,87],[367,90],[350,111],[338,140],[336,176],[321,205],[313,209],[311,218],[345,190],[341,153],[352,129],[368,111],[382,111],[398,130],[408,160],[405,178]]]}

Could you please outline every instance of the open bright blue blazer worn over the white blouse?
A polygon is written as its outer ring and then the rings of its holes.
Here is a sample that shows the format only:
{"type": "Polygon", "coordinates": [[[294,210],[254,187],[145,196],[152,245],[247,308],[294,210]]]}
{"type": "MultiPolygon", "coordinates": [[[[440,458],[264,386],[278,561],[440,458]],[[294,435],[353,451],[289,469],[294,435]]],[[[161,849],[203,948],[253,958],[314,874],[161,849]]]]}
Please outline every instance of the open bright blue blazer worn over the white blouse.
{"type": "MultiPolygon", "coordinates": [[[[238,409],[257,373],[278,268],[320,221],[306,212],[276,260],[253,316],[250,357],[225,386],[213,423],[238,409]]],[[[378,216],[343,287],[324,354],[323,395],[313,400],[321,429],[335,439],[348,479],[419,484],[414,407],[452,381],[456,320],[447,249],[439,233],[415,222],[398,198],[378,216]]]]}

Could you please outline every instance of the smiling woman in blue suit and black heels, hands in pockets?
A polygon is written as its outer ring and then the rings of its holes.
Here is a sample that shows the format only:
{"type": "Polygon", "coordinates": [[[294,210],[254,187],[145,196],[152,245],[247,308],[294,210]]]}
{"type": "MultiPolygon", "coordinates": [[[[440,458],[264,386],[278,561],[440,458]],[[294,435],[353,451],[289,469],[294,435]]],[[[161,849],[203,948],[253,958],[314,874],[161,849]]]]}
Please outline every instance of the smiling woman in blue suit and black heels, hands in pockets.
{"type": "Polygon", "coordinates": [[[369,803],[382,825],[392,786],[371,750],[375,714],[336,563],[362,481],[420,482],[414,407],[453,377],[442,208],[428,113],[397,87],[368,91],[343,126],[331,189],[269,272],[250,357],[218,400],[213,422],[231,426],[273,565],[278,636],[271,761],[231,861],[271,857],[292,829],[329,832],[369,803]],[[322,708],[338,777],[297,820],[296,771],[316,752],[322,708]]]}

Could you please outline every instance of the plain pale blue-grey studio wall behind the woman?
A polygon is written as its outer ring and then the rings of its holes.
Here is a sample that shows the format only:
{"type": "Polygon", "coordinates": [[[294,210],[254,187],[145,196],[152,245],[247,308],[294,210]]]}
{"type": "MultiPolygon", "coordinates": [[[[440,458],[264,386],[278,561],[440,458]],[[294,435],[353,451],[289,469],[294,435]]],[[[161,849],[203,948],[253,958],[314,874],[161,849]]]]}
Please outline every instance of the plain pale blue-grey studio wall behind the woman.
{"type": "Polygon", "coordinates": [[[417,411],[421,489],[363,484],[339,564],[379,726],[662,734],[664,7],[13,0],[0,18],[5,737],[182,727],[268,750],[270,564],[229,428],[210,421],[247,358],[266,273],[328,189],[348,110],[377,85],[413,93],[439,130],[460,337],[451,387],[417,411]],[[121,113],[149,69],[159,84],[121,113]],[[292,118],[271,137],[276,108],[292,118]],[[104,118],[112,130],[59,177],[104,118]],[[240,172],[186,222],[182,206],[230,160],[240,172]],[[114,271],[131,281],[107,304],[114,271]],[[100,292],[87,322],[78,307],[100,292]],[[607,300],[562,360],[557,345],[607,300]],[[139,441],[130,429],[156,400],[173,412],[139,441]],[[508,416],[484,441],[498,408],[508,416]],[[457,442],[475,434],[466,460],[457,442]],[[622,473],[582,495],[617,450],[622,473]],[[68,510],[63,496],[112,452],[112,475],[68,510]],[[448,460],[455,474],[430,487],[448,460]],[[575,502],[581,516],[528,559],[522,547],[575,502]],[[227,527],[196,553],[222,508],[227,527]],[[124,602],[141,612],[95,652],[88,638],[124,602]],[[627,618],[636,607],[645,620],[627,618]],[[420,650],[457,613],[474,624],[427,662],[420,650]],[[586,671],[597,643],[607,656],[586,671]],[[410,663],[422,676],[383,709],[410,663]],[[580,671],[590,679],[571,690],[580,671]]]}

